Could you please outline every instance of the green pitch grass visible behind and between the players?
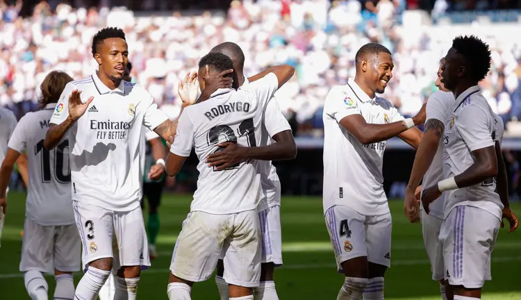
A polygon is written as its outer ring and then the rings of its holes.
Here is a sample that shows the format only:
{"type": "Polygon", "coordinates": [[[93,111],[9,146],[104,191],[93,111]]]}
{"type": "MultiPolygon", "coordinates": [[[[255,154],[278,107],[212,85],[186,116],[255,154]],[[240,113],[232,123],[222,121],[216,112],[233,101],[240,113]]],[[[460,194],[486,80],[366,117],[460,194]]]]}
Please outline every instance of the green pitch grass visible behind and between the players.
{"type": "MultiPolygon", "coordinates": [[[[29,299],[18,271],[24,223],[24,194],[10,193],[8,215],[0,248],[0,299],[29,299]]],[[[160,207],[160,256],[142,273],[138,299],[167,299],[168,267],[181,222],[190,207],[189,196],[165,195],[160,207]]],[[[431,281],[429,262],[423,249],[421,226],[409,224],[401,201],[390,201],[393,217],[392,267],[386,274],[386,299],[440,299],[438,283],[431,281]]],[[[521,215],[521,205],[513,205],[521,215]]],[[[335,260],[317,197],[282,199],[283,267],[275,272],[280,299],[336,299],[342,275],[335,260]]],[[[354,247],[357,247],[354,244],[354,247]]],[[[484,300],[521,299],[518,271],[521,269],[521,231],[502,229],[493,253],[493,281],[486,283],[484,300]]],[[[76,283],[81,274],[76,274],[76,283]]],[[[47,277],[49,290],[53,277],[47,277]]],[[[49,293],[50,299],[52,294],[49,293]]],[[[214,278],[195,284],[192,299],[219,299],[214,278]]]]}

